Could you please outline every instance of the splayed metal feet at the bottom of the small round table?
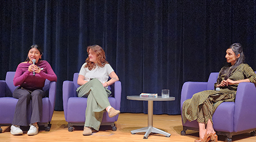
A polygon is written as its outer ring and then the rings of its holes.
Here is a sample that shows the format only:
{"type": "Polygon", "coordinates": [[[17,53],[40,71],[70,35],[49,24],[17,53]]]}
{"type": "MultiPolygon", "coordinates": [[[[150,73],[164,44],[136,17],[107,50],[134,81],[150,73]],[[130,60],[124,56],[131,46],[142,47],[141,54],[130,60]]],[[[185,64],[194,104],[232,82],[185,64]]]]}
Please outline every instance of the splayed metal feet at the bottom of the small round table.
{"type": "Polygon", "coordinates": [[[140,129],[137,129],[137,130],[133,130],[131,131],[132,134],[135,134],[135,133],[138,133],[138,132],[146,132],[143,139],[147,139],[148,135],[152,132],[152,133],[160,133],[162,135],[165,135],[166,137],[170,137],[171,134],[170,133],[167,133],[167,132],[164,132],[162,130],[159,130],[158,128],[155,128],[155,127],[144,127],[144,128],[140,128],[140,129]]]}

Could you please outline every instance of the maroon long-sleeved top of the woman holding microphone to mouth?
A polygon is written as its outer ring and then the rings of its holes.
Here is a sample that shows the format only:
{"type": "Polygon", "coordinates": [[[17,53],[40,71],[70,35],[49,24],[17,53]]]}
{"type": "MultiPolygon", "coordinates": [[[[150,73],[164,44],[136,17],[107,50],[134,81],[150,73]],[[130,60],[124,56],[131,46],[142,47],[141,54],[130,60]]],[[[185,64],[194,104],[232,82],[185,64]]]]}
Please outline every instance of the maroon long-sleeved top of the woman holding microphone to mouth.
{"type": "Polygon", "coordinates": [[[42,89],[44,87],[44,82],[57,81],[57,76],[53,72],[51,65],[47,61],[41,60],[35,63],[41,69],[40,73],[28,72],[28,66],[31,63],[22,62],[18,65],[15,76],[13,78],[14,86],[21,86],[28,90],[42,89]]]}

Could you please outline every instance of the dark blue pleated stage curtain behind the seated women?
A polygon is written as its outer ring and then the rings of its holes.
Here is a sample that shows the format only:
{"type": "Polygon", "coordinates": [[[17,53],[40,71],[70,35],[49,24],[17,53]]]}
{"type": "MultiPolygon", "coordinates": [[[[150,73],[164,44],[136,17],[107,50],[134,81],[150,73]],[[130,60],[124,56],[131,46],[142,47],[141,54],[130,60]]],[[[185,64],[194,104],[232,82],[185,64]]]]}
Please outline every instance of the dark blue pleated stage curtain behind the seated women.
{"type": "Polygon", "coordinates": [[[256,1],[12,0],[0,3],[0,79],[44,47],[57,74],[55,110],[63,110],[62,84],[84,63],[88,45],[104,48],[122,82],[121,112],[147,113],[147,102],[127,95],[170,89],[175,101],[154,102],[154,114],[180,114],[185,81],[207,81],[225,64],[225,51],[241,43],[256,70],[256,1]]]}

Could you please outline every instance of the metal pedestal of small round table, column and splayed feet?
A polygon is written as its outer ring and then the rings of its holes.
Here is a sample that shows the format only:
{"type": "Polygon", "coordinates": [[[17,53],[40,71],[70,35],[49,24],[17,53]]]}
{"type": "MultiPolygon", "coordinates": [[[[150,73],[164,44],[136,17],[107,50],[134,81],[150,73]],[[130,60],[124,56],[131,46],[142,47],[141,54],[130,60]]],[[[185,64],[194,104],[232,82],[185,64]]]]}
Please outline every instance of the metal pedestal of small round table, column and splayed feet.
{"type": "Polygon", "coordinates": [[[170,137],[171,134],[164,132],[162,130],[159,130],[158,128],[153,127],[153,101],[148,101],[148,106],[147,106],[147,118],[148,118],[148,125],[147,127],[140,128],[138,130],[133,130],[131,131],[132,134],[138,133],[138,132],[146,132],[143,139],[147,139],[148,135],[152,133],[160,133],[162,135],[165,135],[166,137],[170,137]]]}

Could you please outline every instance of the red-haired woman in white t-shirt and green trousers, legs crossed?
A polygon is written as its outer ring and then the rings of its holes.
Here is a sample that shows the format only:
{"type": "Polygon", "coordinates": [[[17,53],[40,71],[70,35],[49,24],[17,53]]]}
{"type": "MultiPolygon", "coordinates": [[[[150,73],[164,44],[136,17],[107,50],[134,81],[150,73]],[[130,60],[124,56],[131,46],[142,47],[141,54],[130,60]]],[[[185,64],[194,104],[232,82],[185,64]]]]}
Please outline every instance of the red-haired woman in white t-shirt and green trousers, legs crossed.
{"type": "Polygon", "coordinates": [[[87,47],[88,58],[82,65],[77,84],[78,97],[87,99],[85,111],[84,132],[82,135],[92,135],[92,129],[98,131],[100,128],[103,113],[108,112],[112,118],[120,113],[115,110],[109,103],[109,95],[111,91],[108,86],[118,81],[118,76],[113,68],[106,61],[104,50],[99,45],[87,47]],[[111,78],[110,80],[109,77],[111,78]]]}

